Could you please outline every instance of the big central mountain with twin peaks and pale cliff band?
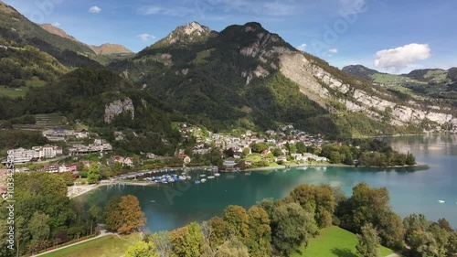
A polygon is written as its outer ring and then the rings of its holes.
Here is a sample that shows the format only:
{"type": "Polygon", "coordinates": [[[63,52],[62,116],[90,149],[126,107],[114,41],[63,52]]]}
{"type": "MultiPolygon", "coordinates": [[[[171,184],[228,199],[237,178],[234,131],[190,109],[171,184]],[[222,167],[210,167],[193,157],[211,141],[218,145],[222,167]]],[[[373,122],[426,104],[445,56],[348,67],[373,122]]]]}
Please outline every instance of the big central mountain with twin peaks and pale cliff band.
{"type": "Polygon", "coordinates": [[[293,123],[310,132],[352,136],[457,124],[447,103],[403,99],[292,48],[255,22],[220,32],[193,22],[110,68],[213,130],[293,123]]]}

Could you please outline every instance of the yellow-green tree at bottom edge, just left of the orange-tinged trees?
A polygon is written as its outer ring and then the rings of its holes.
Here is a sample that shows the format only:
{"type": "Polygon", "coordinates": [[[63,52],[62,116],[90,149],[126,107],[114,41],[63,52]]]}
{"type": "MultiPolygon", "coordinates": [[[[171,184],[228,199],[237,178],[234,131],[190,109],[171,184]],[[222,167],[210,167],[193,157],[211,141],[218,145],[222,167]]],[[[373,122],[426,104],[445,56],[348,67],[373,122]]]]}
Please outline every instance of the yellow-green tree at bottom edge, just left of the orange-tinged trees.
{"type": "Polygon", "coordinates": [[[200,256],[203,243],[203,232],[201,229],[197,222],[192,222],[184,228],[170,232],[170,242],[176,256],[200,256]]]}

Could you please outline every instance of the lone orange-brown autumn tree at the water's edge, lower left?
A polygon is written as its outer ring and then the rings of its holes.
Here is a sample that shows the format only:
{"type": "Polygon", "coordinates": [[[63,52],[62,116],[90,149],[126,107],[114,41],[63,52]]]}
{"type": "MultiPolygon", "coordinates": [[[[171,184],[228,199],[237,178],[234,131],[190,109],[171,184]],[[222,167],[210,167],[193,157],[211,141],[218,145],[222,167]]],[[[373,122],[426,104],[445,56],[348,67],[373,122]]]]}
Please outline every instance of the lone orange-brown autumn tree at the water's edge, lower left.
{"type": "Polygon", "coordinates": [[[108,230],[130,234],[144,226],[146,218],[138,198],[127,195],[112,198],[105,207],[105,226],[108,230]]]}

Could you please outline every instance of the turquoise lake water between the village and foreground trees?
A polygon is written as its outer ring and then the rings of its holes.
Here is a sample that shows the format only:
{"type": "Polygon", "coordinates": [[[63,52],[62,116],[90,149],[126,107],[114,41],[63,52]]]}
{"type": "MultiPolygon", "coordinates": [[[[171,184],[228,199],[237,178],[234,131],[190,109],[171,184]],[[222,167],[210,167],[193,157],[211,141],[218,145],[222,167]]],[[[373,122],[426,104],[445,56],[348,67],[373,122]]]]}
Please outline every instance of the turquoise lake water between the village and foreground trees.
{"type": "MultiPolygon", "coordinates": [[[[263,198],[283,198],[297,185],[330,184],[347,195],[359,182],[388,187],[390,202],[400,216],[424,213],[430,220],[446,218],[457,228],[457,136],[404,136],[388,139],[397,150],[411,152],[430,168],[382,169],[298,167],[244,174],[222,174],[206,183],[160,187],[100,187],[80,198],[103,206],[115,195],[135,195],[147,217],[148,230],[173,230],[220,215],[230,204],[249,208],[263,198]],[[150,202],[154,200],[155,202],[150,202]],[[444,200],[440,203],[438,200],[444,200]]],[[[192,174],[193,180],[197,174],[192,174]]]]}

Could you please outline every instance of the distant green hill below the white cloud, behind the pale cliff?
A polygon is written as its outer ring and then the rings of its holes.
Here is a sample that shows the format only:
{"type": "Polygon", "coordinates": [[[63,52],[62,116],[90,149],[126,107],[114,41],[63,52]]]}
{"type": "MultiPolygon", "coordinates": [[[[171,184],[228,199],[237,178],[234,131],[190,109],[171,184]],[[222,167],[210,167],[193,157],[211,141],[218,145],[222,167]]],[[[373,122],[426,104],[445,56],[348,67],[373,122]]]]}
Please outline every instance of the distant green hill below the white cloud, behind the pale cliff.
{"type": "Polygon", "coordinates": [[[370,70],[362,65],[346,66],[346,72],[382,85],[402,99],[430,99],[432,102],[457,106],[457,68],[450,70],[412,70],[408,74],[394,75],[370,70]]]}

